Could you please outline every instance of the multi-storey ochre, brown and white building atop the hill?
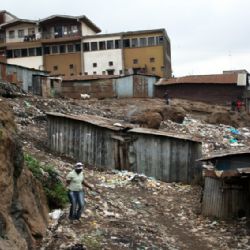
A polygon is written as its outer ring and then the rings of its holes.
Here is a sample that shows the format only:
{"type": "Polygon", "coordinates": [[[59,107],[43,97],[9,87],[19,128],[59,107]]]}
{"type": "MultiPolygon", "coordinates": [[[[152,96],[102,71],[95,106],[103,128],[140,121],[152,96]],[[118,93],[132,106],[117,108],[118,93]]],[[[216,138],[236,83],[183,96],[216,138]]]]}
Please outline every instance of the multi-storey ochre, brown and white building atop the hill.
{"type": "Polygon", "coordinates": [[[100,28],[86,16],[9,17],[0,24],[1,61],[52,75],[171,76],[165,29],[98,34],[100,28]]]}

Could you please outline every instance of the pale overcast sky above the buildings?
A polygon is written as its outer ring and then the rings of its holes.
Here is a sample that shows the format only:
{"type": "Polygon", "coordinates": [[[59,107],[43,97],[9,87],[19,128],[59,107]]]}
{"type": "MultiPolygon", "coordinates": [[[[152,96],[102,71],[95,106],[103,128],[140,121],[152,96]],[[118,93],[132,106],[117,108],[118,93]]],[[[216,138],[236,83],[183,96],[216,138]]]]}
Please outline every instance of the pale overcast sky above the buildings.
{"type": "Polygon", "coordinates": [[[165,28],[175,76],[250,71],[250,0],[0,0],[0,9],[86,15],[102,33],[165,28]]]}

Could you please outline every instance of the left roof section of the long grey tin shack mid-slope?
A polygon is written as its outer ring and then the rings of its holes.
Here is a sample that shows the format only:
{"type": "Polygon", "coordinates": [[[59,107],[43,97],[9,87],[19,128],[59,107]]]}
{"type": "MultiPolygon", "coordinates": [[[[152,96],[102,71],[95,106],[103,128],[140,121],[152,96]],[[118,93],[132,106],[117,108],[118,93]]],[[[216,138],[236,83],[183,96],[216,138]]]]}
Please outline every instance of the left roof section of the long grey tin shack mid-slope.
{"type": "Polygon", "coordinates": [[[48,112],[46,114],[48,116],[62,117],[62,118],[76,120],[76,121],[83,121],[89,124],[96,125],[98,127],[108,128],[114,131],[123,131],[123,130],[127,130],[127,129],[134,127],[132,124],[123,123],[121,121],[111,120],[111,119],[104,118],[101,116],[96,116],[96,115],[67,115],[67,114],[56,113],[56,112],[48,112]]]}

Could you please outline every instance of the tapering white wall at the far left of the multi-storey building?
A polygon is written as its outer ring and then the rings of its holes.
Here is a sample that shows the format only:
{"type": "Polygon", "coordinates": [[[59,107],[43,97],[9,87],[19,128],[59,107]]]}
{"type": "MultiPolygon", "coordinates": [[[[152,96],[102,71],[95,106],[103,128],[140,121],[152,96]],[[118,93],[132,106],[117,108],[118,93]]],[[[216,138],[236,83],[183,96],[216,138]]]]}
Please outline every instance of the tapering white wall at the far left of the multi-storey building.
{"type": "Polygon", "coordinates": [[[29,56],[21,58],[7,59],[7,63],[16,64],[19,66],[43,70],[43,57],[42,56],[29,56]]]}

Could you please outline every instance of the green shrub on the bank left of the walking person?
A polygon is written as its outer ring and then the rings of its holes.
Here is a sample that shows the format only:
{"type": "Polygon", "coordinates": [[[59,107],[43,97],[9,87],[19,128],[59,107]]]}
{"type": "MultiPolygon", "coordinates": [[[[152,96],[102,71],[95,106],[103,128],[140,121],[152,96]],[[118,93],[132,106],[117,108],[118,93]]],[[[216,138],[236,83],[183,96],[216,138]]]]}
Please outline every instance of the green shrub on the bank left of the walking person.
{"type": "Polygon", "coordinates": [[[51,165],[42,166],[29,154],[24,155],[26,166],[42,183],[50,209],[63,208],[68,202],[67,190],[60,180],[59,174],[51,165]]]}

